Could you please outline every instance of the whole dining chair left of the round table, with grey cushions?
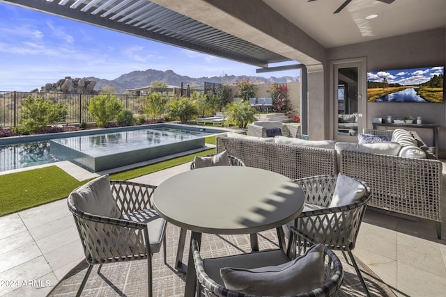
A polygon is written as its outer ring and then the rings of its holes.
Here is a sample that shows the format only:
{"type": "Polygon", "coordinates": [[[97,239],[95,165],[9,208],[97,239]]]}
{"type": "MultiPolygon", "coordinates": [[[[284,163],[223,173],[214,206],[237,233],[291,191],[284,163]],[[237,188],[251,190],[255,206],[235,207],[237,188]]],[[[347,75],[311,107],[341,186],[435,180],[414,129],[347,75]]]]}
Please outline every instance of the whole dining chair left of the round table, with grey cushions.
{"type": "Polygon", "coordinates": [[[164,246],[166,261],[167,222],[158,216],[151,201],[156,186],[110,181],[103,175],[76,188],[68,196],[68,209],[89,268],[77,291],[80,296],[93,265],[146,259],[148,296],[152,296],[152,255],[164,246]]]}

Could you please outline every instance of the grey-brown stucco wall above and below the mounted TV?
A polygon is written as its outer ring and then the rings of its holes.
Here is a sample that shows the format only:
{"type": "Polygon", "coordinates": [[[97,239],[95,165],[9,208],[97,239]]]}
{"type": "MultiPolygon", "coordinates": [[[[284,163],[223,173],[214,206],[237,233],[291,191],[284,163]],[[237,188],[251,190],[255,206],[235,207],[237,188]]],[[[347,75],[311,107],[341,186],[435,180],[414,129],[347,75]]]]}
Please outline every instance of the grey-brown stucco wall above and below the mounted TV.
{"type": "MultiPolygon", "coordinates": [[[[415,67],[446,65],[446,29],[436,29],[394,38],[362,42],[328,50],[330,61],[366,57],[367,71],[394,70],[415,67]]],[[[365,97],[365,96],[364,96],[365,97]]],[[[371,118],[406,117],[420,115],[424,123],[437,124],[439,132],[439,154],[446,156],[446,99],[443,104],[433,103],[367,103],[367,127],[371,118]]],[[[310,117],[312,114],[309,115],[310,117]]],[[[433,145],[430,130],[419,129],[417,133],[428,144],[433,145]]]]}

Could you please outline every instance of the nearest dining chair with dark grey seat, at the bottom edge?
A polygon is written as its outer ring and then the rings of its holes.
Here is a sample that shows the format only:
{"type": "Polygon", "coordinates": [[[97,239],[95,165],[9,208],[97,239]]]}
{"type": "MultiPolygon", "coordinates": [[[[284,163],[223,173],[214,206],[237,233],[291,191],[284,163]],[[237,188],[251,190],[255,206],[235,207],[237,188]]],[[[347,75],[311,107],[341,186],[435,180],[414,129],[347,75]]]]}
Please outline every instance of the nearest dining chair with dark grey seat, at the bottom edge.
{"type": "MultiPolygon", "coordinates": [[[[236,280],[236,283],[240,282],[242,287],[250,287],[250,289],[254,288],[254,291],[261,291],[263,292],[262,296],[271,295],[270,292],[265,292],[263,289],[275,291],[275,296],[290,296],[289,293],[283,292],[283,287],[287,287],[286,291],[298,292],[291,295],[295,297],[334,296],[344,280],[344,270],[337,255],[327,246],[321,246],[320,255],[322,257],[318,258],[316,256],[312,263],[299,262],[305,257],[306,252],[316,248],[316,246],[312,239],[305,234],[301,234],[294,227],[291,227],[291,239],[286,253],[282,249],[263,250],[241,255],[202,259],[197,241],[192,241],[194,266],[198,280],[197,292],[199,292],[199,296],[201,294],[204,296],[238,297],[256,297],[259,295],[247,294],[246,291],[235,291],[225,287],[225,281],[228,282],[228,280],[222,280],[222,274],[220,273],[220,269],[224,268],[226,271],[228,269],[230,271],[242,271],[241,278],[236,280]],[[293,265],[294,260],[297,261],[295,267],[299,266],[299,268],[290,271],[291,266],[289,265],[293,265]],[[272,268],[272,266],[279,265],[281,265],[279,269],[272,268]],[[283,268],[284,266],[286,268],[283,268]],[[249,271],[247,272],[245,269],[249,269],[249,271]],[[254,273],[254,278],[250,278],[252,269],[269,272],[261,277],[254,273]],[[245,273],[247,275],[244,275],[245,273]],[[290,276],[290,274],[293,275],[290,276]],[[286,278],[283,278],[283,276],[286,276],[286,278]],[[317,279],[317,281],[314,279],[317,279]],[[314,287],[315,283],[318,283],[317,287],[314,287]]],[[[311,257],[313,256],[314,254],[311,257]]],[[[238,277],[239,275],[240,273],[235,276],[238,277]]],[[[249,291],[249,293],[252,292],[249,291]]]]}

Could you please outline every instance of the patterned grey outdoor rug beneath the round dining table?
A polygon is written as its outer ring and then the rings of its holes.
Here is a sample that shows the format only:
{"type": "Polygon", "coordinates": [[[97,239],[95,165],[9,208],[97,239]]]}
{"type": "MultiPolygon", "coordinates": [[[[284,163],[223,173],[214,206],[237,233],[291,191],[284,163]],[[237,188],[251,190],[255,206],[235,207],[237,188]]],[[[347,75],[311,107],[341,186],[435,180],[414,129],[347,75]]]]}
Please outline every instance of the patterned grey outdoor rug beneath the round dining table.
{"type": "MultiPolygon", "coordinates": [[[[167,263],[164,265],[162,251],[153,255],[153,296],[183,296],[185,275],[174,268],[176,248],[180,229],[168,224],[167,227],[167,263]]],[[[275,230],[268,230],[259,234],[259,249],[278,248],[275,230]]],[[[187,240],[189,240],[188,232],[187,240]]],[[[187,241],[188,242],[188,241],[187,241]]],[[[79,243],[80,244],[80,243],[79,243]]],[[[249,252],[249,235],[211,235],[203,234],[201,255],[207,257],[221,257],[249,252]]],[[[341,252],[337,252],[344,267],[344,283],[337,292],[337,296],[366,296],[357,278],[355,268],[345,262],[341,252]]],[[[187,249],[185,250],[187,259],[187,249]]],[[[362,271],[371,296],[395,296],[366,265],[356,258],[357,265],[362,271]]],[[[79,263],[56,284],[48,296],[75,296],[84,278],[88,264],[79,263]]],[[[147,262],[139,260],[117,264],[104,264],[100,273],[98,266],[93,267],[89,280],[84,287],[82,296],[147,296],[147,262]]]]}

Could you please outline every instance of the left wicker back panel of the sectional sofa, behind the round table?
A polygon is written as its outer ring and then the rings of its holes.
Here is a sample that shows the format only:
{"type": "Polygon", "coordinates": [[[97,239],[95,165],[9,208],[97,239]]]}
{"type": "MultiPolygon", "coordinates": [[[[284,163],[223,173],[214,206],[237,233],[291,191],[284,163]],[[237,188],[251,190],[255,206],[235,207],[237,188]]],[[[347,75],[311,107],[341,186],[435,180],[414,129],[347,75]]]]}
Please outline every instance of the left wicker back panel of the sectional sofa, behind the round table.
{"type": "Polygon", "coordinates": [[[337,154],[333,149],[252,141],[217,136],[217,152],[226,150],[247,167],[280,173],[291,179],[337,174],[337,154]],[[298,164],[298,166],[296,166],[298,164]]]}

